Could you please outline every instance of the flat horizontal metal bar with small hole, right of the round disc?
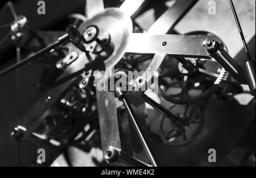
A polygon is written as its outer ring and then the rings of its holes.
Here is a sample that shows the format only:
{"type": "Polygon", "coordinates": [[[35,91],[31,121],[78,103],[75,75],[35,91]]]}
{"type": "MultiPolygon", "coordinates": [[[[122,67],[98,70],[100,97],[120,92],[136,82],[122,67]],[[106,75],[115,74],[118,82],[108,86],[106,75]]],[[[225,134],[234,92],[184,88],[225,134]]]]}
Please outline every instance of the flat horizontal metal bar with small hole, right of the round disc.
{"type": "Polygon", "coordinates": [[[164,53],[183,57],[210,58],[201,46],[205,35],[150,35],[132,34],[126,52],[164,53]]]}

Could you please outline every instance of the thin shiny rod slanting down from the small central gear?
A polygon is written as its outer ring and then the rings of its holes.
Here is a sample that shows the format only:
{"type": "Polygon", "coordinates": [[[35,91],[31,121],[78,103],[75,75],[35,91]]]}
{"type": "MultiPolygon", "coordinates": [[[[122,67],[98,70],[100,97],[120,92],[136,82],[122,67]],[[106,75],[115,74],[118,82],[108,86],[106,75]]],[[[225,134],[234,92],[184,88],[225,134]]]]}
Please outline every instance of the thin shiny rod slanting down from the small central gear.
{"type": "Polygon", "coordinates": [[[138,135],[139,135],[139,138],[141,139],[141,142],[143,144],[143,147],[148,155],[148,158],[150,159],[150,162],[151,164],[156,167],[156,162],[155,162],[155,159],[153,158],[152,154],[151,154],[151,151],[150,149],[148,148],[147,146],[147,143],[146,143],[146,140],[144,139],[144,136],[143,134],[141,133],[141,129],[139,129],[139,125],[136,121],[136,118],[135,118],[135,114],[134,114],[134,111],[133,109],[131,108],[131,105],[130,103],[127,101],[126,97],[123,96],[121,98],[122,102],[123,102],[123,105],[125,105],[125,108],[127,110],[127,113],[129,114],[129,117],[131,118],[131,121],[133,122],[133,125],[135,127],[135,130],[137,131],[138,135]]]}

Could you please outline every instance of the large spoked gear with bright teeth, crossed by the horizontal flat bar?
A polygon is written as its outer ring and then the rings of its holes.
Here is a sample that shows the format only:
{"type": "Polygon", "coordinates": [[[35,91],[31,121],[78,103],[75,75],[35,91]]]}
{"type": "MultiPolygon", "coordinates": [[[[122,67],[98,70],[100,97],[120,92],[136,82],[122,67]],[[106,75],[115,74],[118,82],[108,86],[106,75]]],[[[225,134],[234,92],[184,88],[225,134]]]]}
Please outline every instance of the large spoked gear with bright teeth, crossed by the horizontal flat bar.
{"type": "MultiPolygon", "coordinates": [[[[192,31],[192,32],[188,32],[186,33],[185,35],[212,35],[212,36],[215,36],[219,41],[220,43],[223,45],[224,49],[228,52],[228,48],[226,47],[226,44],[217,36],[217,35],[214,35],[213,33],[211,32],[208,32],[208,31],[192,31]]],[[[187,60],[191,60],[190,58],[187,58],[187,60]]],[[[195,59],[194,59],[195,60],[195,59]]],[[[205,63],[207,62],[216,62],[215,60],[201,60],[201,59],[196,59],[196,65],[195,65],[195,68],[198,67],[198,68],[203,68],[201,70],[204,70],[204,71],[207,71],[207,69],[205,69],[205,63]]],[[[217,62],[216,62],[217,64],[217,62]]],[[[178,64],[178,66],[180,66],[178,64]]],[[[200,75],[199,75],[199,72],[197,73],[193,73],[193,76],[190,77],[188,79],[188,76],[189,76],[189,73],[186,73],[186,72],[182,72],[180,71],[180,67],[179,67],[179,70],[176,71],[177,73],[175,74],[174,77],[171,77],[171,76],[164,76],[164,77],[168,77],[168,78],[175,78],[176,80],[174,81],[171,81],[170,84],[167,84],[167,81],[164,81],[164,78],[160,77],[159,78],[159,93],[160,93],[160,96],[162,96],[165,100],[167,101],[170,101],[174,104],[177,104],[177,105],[186,105],[186,104],[192,104],[192,103],[197,103],[197,102],[200,102],[201,100],[204,100],[204,99],[207,99],[209,97],[212,96],[212,94],[216,91],[217,89],[217,86],[221,84],[222,81],[225,81],[227,80],[229,74],[228,72],[225,71],[224,68],[220,67],[219,66],[216,66],[217,67],[217,72],[218,74],[216,74],[216,79],[215,81],[212,83],[212,84],[209,84],[209,82],[207,82],[207,78],[205,78],[205,80],[203,80],[202,78],[199,78],[200,75]],[[181,78],[180,74],[182,76],[184,76],[184,78],[181,78]],[[183,81],[181,81],[183,79],[183,81]],[[190,80],[193,80],[193,81],[196,81],[193,85],[191,85],[189,83],[190,80]],[[197,96],[189,96],[188,92],[188,88],[191,87],[191,88],[198,88],[199,86],[201,87],[201,83],[205,83],[205,88],[202,88],[202,93],[200,93],[199,95],[197,96]],[[189,84],[187,84],[187,82],[189,84]],[[172,87],[175,87],[175,88],[182,88],[181,89],[181,93],[175,93],[175,94],[166,94],[167,90],[169,88],[172,88],[172,87]],[[183,88],[185,88],[185,92],[186,93],[186,96],[184,96],[184,93],[183,93],[183,88]]],[[[210,66],[210,68],[212,68],[210,66]]],[[[214,66],[213,66],[214,68],[214,66]]],[[[168,68],[164,68],[164,70],[170,70],[168,68]]],[[[184,70],[185,71],[185,70],[184,70]]]]}

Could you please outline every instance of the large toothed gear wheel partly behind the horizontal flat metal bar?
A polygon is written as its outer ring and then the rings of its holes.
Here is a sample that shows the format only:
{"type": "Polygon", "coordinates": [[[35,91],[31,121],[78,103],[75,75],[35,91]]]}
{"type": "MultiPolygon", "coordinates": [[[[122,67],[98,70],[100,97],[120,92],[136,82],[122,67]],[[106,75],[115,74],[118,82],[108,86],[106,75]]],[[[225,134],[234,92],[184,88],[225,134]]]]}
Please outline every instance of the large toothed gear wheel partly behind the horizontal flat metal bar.
{"type": "MultiPolygon", "coordinates": [[[[220,42],[223,45],[224,49],[228,52],[228,48],[226,47],[226,44],[223,42],[223,40],[221,40],[221,38],[219,38],[217,35],[214,35],[212,32],[208,32],[208,31],[192,31],[192,32],[186,33],[185,35],[213,35],[218,40],[220,40],[220,42]]],[[[196,60],[197,63],[198,63],[199,60],[200,59],[196,60]]],[[[203,66],[204,66],[204,63],[206,63],[206,62],[207,62],[207,60],[203,61],[203,66]]],[[[164,69],[166,69],[166,66],[164,67],[164,69]]],[[[183,86],[183,84],[186,81],[184,81],[183,83],[181,83],[180,81],[172,82],[167,88],[165,88],[164,85],[166,85],[166,84],[164,84],[164,81],[161,80],[161,78],[159,78],[159,93],[160,93],[160,96],[162,96],[165,100],[167,100],[169,102],[172,102],[174,104],[177,104],[177,105],[187,105],[187,104],[192,104],[192,103],[200,102],[201,100],[204,100],[204,99],[207,99],[207,98],[211,97],[212,94],[216,91],[217,86],[220,85],[222,81],[227,80],[229,74],[228,74],[228,72],[225,71],[224,68],[218,69],[218,72],[219,72],[219,74],[216,77],[216,80],[213,82],[213,84],[211,86],[209,86],[209,88],[205,89],[202,93],[199,94],[199,96],[189,97],[189,98],[188,97],[187,98],[182,98],[181,97],[182,93],[175,94],[175,95],[167,95],[164,92],[164,89],[167,91],[168,88],[170,88],[171,86],[177,86],[177,85],[181,85],[181,84],[182,84],[181,86],[183,86]]],[[[181,71],[179,71],[179,74],[180,73],[181,73],[181,71]]],[[[185,74],[184,76],[187,76],[187,74],[185,74]]],[[[198,74],[195,74],[194,77],[198,77],[198,76],[199,76],[198,74]]],[[[185,77],[184,77],[184,79],[185,79],[185,77]]],[[[187,88],[189,86],[184,86],[184,87],[187,88]]]]}

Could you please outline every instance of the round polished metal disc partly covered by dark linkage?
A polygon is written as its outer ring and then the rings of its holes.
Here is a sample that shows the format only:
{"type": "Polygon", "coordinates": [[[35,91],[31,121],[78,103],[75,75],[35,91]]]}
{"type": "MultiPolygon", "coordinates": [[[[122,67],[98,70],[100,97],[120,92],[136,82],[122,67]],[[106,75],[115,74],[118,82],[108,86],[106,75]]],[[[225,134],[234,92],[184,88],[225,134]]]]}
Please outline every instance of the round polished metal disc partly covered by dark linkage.
{"type": "Polygon", "coordinates": [[[117,8],[108,8],[82,23],[79,30],[83,32],[86,27],[91,25],[96,25],[99,28],[99,39],[104,37],[106,33],[111,36],[114,52],[105,61],[105,65],[106,68],[114,67],[125,54],[126,45],[129,42],[130,34],[133,32],[133,24],[130,17],[117,8]]]}

